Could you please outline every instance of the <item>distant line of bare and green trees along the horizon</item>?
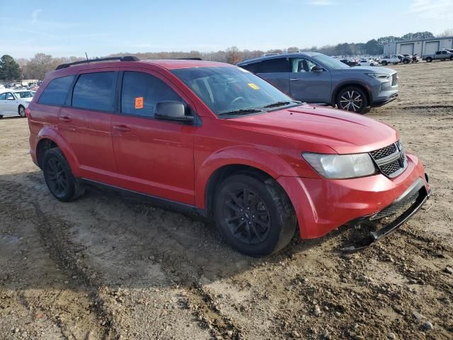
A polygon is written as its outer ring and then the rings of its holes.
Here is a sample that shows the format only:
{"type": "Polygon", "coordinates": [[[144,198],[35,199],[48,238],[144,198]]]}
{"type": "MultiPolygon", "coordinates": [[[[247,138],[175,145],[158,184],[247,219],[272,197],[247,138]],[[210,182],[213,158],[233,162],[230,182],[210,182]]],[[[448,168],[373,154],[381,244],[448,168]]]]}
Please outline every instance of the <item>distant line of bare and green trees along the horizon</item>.
{"type": "MultiPolygon", "coordinates": [[[[438,36],[447,36],[452,33],[452,30],[445,30],[438,36]]],[[[299,47],[288,47],[285,50],[239,50],[238,47],[229,47],[226,50],[219,50],[217,52],[145,52],[145,53],[127,53],[120,52],[108,57],[119,57],[122,55],[135,55],[141,60],[147,59],[178,59],[178,58],[193,58],[200,57],[202,60],[210,60],[215,62],[228,62],[229,64],[237,64],[242,60],[253,59],[261,57],[264,53],[282,53],[292,52],[296,50],[305,50],[311,52],[320,52],[325,55],[382,55],[384,53],[384,45],[389,42],[401,40],[416,40],[416,39],[430,39],[435,36],[428,32],[407,33],[402,37],[393,35],[372,39],[367,42],[344,42],[338,45],[326,45],[323,47],[310,47],[299,49],[299,47]]],[[[45,53],[37,53],[30,59],[19,58],[14,60],[9,55],[4,55],[0,59],[0,81],[18,81],[21,79],[44,79],[45,74],[54,70],[59,64],[67,62],[76,62],[84,60],[84,57],[52,57],[45,53]]]]}

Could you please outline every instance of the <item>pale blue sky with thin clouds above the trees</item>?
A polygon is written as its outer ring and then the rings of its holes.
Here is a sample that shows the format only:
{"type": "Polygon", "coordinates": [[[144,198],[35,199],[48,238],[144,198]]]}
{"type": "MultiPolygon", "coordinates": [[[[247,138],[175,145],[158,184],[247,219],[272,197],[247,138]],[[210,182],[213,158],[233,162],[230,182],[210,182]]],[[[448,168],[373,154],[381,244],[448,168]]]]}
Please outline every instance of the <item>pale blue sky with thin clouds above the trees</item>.
{"type": "Polygon", "coordinates": [[[453,28],[453,0],[2,1],[0,55],[268,50],[453,28]]]}

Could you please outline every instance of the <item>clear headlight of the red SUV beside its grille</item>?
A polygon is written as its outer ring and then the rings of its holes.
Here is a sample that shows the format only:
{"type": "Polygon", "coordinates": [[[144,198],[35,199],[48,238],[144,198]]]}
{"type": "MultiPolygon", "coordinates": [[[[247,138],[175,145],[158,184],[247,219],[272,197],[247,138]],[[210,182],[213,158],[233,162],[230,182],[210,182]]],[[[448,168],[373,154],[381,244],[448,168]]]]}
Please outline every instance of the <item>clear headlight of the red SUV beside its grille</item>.
{"type": "Polygon", "coordinates": [[[306,162],[326,179],[353,179],[376,172],[369,154],[302,154],[306,162]]]}

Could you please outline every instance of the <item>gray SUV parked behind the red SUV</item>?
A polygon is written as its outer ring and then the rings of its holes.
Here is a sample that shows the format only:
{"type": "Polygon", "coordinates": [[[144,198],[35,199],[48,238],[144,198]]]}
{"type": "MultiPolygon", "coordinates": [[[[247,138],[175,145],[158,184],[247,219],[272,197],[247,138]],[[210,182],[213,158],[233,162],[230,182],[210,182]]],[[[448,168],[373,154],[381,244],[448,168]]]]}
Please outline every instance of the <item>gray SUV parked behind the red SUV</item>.
{"type": "Polygon", "coordinates": [[[294,99],[364,113],[398,96],[396,71],[386,67],[349,67],[316,52],[246,60],[239,67],[258,74],[294,99]]]}

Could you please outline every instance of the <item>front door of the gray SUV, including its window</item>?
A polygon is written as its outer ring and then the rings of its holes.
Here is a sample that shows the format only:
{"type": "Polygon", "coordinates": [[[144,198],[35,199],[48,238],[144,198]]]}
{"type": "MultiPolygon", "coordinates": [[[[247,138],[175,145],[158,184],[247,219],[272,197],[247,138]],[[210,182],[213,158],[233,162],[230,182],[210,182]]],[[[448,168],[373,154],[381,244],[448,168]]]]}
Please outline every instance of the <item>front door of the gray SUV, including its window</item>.
{"type": "Polygon", "coordinates": [[[289,75],[290,96],[308,103],[330,103],[332,93],[331,72],[313,72],[317,64],[305,57],[291,58],[289,75]]]}

